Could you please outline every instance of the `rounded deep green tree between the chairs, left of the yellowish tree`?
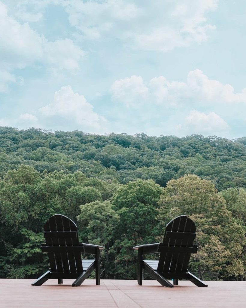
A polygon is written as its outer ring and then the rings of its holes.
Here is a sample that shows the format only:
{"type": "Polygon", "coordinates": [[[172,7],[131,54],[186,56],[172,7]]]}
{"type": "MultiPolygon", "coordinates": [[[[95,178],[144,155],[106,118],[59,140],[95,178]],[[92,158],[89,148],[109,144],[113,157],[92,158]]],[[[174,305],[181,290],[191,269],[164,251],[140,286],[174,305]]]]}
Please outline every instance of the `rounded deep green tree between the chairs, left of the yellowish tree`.
{"type": "Polygon", "coordinates": [[[121,186],[113,196],[113,209],[119,221],[113,230],[115,274],[131,279],[136,276],[136,254],[132,247],[151,243],[156,237],[158,200],[162,188],[153,180],[137,180],[121,186]],[[127,270],[125,270],[127,268],[127,270]]]}

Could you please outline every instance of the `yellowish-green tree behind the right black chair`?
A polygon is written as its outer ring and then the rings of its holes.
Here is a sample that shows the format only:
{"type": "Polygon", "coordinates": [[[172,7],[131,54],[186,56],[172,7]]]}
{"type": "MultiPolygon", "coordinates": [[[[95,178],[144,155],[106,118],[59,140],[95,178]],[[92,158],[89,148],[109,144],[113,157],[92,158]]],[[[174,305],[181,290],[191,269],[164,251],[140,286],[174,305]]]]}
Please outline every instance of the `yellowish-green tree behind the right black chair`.
{"type": "Polygon", "coordinates": [[[192,255],[192,260],[200,278],[244,274],[244,229],[226,209],[224,198],[217,193],[211,181],[195,175],[170,180],[159,205],[158,219],[163,227],[180,214],[189,216],[195,222],[199,251],[192,255]],[[222,250],[224,253],[220,258],[222,250]]]}

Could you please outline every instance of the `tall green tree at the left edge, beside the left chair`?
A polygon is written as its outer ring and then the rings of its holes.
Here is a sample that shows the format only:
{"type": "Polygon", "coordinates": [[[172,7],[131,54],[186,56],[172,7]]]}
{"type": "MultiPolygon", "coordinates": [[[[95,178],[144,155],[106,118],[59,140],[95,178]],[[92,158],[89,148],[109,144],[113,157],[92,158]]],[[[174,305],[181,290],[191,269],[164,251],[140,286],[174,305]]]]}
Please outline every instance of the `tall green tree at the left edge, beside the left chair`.
{"type": "Polygon", "coordinates": [[[42,184],[40,173],[24,165],[7,172],[1,182],[0,250],[7,257],[5,275],[9,278],[37,274],[46,264],[46,257],[40,253],[44,238],[38,232],[50,215],[61,212],[61,207],[50,202],[49,191],[42,184]]]}

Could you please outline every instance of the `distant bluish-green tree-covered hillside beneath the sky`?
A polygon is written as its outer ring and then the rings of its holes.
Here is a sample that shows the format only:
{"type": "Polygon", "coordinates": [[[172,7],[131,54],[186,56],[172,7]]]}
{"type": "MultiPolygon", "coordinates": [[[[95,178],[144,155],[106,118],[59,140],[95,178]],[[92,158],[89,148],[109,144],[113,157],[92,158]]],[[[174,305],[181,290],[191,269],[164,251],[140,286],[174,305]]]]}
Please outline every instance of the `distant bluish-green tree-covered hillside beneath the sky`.
{"type": "Polygon", "coordinates": [[[245,137],[102,136],[0,127],[0,176],[21,164],[39,172],[81,171],[88,177],[116,179],[122,184],[151,179],[165,187],[171,179],[196,174],[212,180],[219,191],[246,188],[245,137]]]}

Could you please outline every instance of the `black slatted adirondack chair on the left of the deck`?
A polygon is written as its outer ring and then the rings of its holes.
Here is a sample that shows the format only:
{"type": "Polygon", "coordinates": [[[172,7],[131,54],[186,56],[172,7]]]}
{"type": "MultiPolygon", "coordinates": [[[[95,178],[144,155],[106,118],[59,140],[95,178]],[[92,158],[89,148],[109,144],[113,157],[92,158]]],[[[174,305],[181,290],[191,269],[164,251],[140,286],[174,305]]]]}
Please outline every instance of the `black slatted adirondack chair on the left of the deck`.
{"type": "Polygon", "coordinates": [[[35,280],[32,286],[41,286],[48,279],[76,279],[72,286],[81,283],[96,270],[96,284],[100,285],[100,250],[104,247],[78,242],[77,226],[68,217],[56,214],[44,225],[46,244],[42,252],[48,253],[50,269],[35,280]],[[93,260],[81,260],[81,253],[93,254],[93,260]]]}

